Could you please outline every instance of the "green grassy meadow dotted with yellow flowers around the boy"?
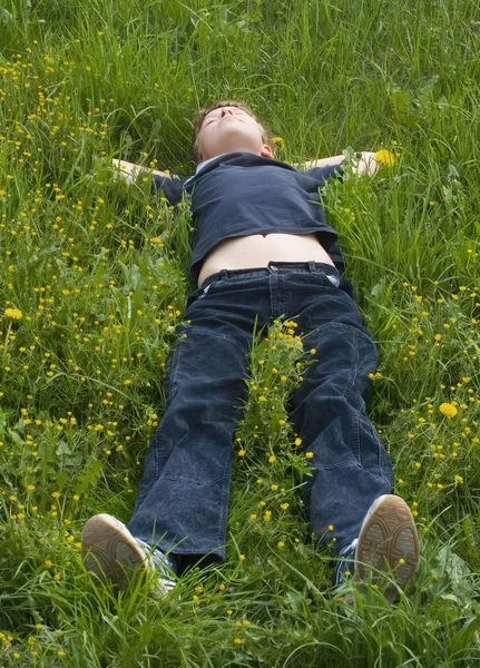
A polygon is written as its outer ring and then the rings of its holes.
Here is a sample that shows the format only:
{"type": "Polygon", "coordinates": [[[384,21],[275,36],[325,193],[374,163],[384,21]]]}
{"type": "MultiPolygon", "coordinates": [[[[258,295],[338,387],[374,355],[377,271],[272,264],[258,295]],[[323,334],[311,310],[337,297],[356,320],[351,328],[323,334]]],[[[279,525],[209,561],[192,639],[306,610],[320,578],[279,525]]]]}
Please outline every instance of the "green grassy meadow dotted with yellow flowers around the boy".
{"type": "Polygon", "coordinates": [[[1,0],[0,667],[460,668],[480,659],[480,6],[476,0],[1,0]],[[280,159],[394,158],[323,191],[379,346],[370,415],[422,560],[392,606],[331,590],[288,423],[292,323],[253,341],[227,560],[164,599],[96,588],[128,521],[188,292],[195,111],[246,101],[280,159]]]}

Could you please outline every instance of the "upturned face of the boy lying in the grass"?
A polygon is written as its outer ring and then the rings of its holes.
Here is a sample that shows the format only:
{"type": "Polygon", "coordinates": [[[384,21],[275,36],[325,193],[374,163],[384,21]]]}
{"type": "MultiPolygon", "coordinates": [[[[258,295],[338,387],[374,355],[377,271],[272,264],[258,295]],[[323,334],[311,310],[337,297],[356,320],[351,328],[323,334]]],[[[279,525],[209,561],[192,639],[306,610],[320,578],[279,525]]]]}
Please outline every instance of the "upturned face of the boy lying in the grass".
{"type": "Polygon", "coordinates": [[[237,107],[221,107],[205,116],[198,149],[200,161],[236,151],[273,157],[272,147],[264,143],[257,121],[237,107]]]}

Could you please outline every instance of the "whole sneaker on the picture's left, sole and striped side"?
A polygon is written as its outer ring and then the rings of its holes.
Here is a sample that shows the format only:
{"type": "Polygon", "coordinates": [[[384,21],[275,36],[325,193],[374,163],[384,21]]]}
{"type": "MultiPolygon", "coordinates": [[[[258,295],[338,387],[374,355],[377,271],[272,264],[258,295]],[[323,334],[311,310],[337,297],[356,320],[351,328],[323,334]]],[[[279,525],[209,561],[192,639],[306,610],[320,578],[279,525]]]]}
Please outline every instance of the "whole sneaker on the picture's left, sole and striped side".
{"type": "Polygon", "coordinates": [[[136,569],[158,572],[155,589],[160,596],[176,583],[174,556],[153,550],[112,515],[98,514],[88,520],[81,532],[81,551],[85,567],[98,584],[109,580],[125,589],[129,573],[136,569]]]}

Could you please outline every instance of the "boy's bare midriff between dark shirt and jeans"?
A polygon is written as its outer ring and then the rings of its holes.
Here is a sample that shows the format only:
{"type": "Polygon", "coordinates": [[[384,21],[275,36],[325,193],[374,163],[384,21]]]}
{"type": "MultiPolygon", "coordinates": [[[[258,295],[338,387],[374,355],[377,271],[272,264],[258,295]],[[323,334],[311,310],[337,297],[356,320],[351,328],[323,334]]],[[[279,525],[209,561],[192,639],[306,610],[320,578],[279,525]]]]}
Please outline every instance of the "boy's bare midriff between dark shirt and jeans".
{"type": "Polygon", "coordinates": [[[315,234],[252,234],[225,239],[206,257],[198,287],[221,269],[253,269],[270,262],[322,262],[332,266],[330,255],[315,234]]]}

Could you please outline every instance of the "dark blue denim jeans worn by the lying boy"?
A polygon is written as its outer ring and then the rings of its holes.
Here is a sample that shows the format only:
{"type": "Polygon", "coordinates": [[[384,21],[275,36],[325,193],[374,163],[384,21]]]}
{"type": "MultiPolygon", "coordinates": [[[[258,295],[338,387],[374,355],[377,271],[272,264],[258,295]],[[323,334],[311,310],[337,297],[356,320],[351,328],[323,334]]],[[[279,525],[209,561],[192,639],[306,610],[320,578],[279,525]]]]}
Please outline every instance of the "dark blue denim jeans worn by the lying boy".
{"type": "Polygon", "coordinates": [[[390,492],[390,459],[365,415],[376,347],[351,284],[314,262],[223,269],[189,295],[178,326],[165,413],[128,524],[137,538],[175,554],[225,558],[233,442],[254,323],[258,331],[282,316],[297,323],[305,351],[316,350],[291,412],[302,449],[314,453],[303,485],[310,530],[320,543],[335,537],[337,553],[356,538],[371,503],[390,492]]]}

